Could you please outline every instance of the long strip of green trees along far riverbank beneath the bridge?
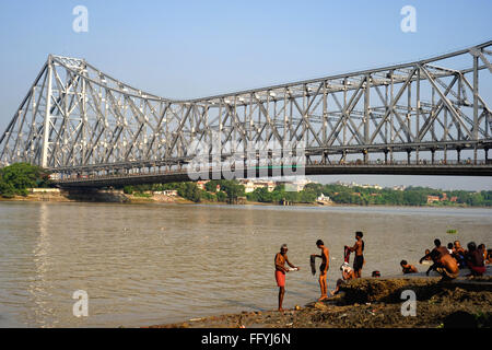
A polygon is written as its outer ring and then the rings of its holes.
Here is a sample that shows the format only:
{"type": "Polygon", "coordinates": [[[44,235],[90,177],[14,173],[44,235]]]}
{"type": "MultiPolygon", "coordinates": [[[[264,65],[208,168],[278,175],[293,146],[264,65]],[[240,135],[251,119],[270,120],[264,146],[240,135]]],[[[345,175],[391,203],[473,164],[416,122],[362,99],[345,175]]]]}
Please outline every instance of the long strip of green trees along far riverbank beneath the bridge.
{"type": "MultiPolygon", "coordinates": [[[[161,191],[176,189],[178,195],[188,200],[200,202],[235,202],[238,197],[246,196],[248,201],[265,203],[281,203],[289,201],[291,203],[314,203],[316,198],[321,194],[329,197],[338,205],[355,205],[355,206],[426,206],[427,196],[438,196],[443,198],[446,195],[447,200],[433,202],[431,206],[492,206],[492,191],[472,192],[466,190],[448,190],[426,187],[408,187],[406,190],[395,190],[391,188],[364,188],[348,187],[337,184],[307,184],[303,190],[288,191],[285,185],[278,185],[272,191],[267,188],[257,188],[255,191],[245,194],[245,188],[237,180],[210,180],[204,185],[204,190],[199,189],[196,183],[171,183],[126,186],[124,191],[144,192],[148,190],[161,191]],[[220,190],[218,190],[218,186],[220,190]],[[456,201],[450,201],[456,197],[456,201]]],[[[15,192],[15,189],[9,185],[0,183],[0,192],[3,196],[15,192]],[[3,186],[3,187],[2,187],[3,186]]]]}

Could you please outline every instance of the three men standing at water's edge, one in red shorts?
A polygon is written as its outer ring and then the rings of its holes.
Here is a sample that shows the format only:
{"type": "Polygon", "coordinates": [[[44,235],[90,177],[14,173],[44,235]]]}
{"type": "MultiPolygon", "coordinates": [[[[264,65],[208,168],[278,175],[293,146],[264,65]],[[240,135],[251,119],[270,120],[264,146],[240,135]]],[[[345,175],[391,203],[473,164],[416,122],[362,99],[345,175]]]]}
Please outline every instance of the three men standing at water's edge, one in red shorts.
{"type": "MultiPolygon", "coordinates": [[[[337,281],[337,287],[333,291],[330,292],[331,295],[338,293],[340,285],[351,279],[360,278],[362,276],[362,267],[364,266],[364,241],[362,241],[363,233],[361,231],[355,232],[355,244],[353,246],[345,246],[344,247],[344,262],[340,267],[342,279],[339,279],[337,281]],[[354,261],[353,261],[353,269],[349,265],[349,257],[350,254],[354,253],[354,261]]],[[[319,266],[319,288],[321,290],[321,296],[318,299],[318,301],[323,301],[328,299],[328,284],[326,281],[326,277],[328,273],[329,265],[330,265],[330,256],[329,256],[329,249],[325,246],[325,243],[321,240],[316,241],[316,246],[320,249],[320,254],[313,254],[311,256],[311,267],[313,275],[316,273],[316,267],[315,267],[315,260],[316,258],[321,258],[321,265],[319,266]]],[[[286,244],[283,244],[280,247],[280,252],[277,253],[274,264],[276,264],[276,280],[277,285],[279,287],[279,311],[283,311],[282,303],[283,303],[283,295],[285,293],[285,273],[292,270],[300,270],[297,266],[294,266],[289,261],[289,258],[286,256],[288,252],[286,244]],[[285,264],[289,267],[285,267],[285,264]]]]}

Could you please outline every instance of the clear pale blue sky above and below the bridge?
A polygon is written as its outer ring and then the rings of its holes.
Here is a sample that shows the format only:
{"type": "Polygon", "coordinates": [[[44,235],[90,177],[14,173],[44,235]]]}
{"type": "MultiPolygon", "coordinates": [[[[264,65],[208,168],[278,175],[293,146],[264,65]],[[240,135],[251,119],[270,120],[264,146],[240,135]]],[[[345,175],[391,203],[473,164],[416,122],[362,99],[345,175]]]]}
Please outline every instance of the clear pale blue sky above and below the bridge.
{"type": "MultiPolygon", "coordinates": [[[[319,78],[413,61],[492,37],[492,1],[0,2],[0,132],[49,54],[171,98],[319,78]],[[87,32],[72,24],[87,9],[87,32]],[[417,32],[400,14],[412,5],[417,32]]],[[[321,182],[492,189],[489,177],[326,176],[321,182]]],[[[319,180],[319,179],[318,179],[319,180]]]]}

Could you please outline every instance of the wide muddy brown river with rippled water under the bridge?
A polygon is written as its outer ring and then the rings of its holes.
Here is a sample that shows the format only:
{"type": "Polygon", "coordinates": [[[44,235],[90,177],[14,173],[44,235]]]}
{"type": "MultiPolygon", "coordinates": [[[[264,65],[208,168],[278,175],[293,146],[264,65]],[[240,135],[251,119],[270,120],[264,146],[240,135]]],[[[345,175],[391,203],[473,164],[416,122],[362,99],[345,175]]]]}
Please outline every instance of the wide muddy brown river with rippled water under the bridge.
{"type": "Polygon", "coordinates": [[[283,243],[301,267],[286,276],[284,307],[319,296],[308,265],[318,238],[330,290],[355,231],[363,277],[399,275],[435,237],[490,247],[492,210],[3,201],[0,228],[0,327],[138,327],[276,308],[283,243]],[[73,315],[78,290],[87,316],[73,315]]]}

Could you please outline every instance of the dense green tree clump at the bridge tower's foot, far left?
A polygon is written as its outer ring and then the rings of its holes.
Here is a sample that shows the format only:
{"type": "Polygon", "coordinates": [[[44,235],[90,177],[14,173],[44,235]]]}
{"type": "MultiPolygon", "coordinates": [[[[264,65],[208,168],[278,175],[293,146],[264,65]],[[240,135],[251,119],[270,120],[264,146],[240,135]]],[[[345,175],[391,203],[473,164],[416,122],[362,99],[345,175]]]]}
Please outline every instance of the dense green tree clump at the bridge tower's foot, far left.
{"type": "Polygon", "coordinates": [[[27,196],[28,188],[50,185],[49,173],[36,165],[15,163],[0,168],[0,195],[4,198],[27,196]]]}

